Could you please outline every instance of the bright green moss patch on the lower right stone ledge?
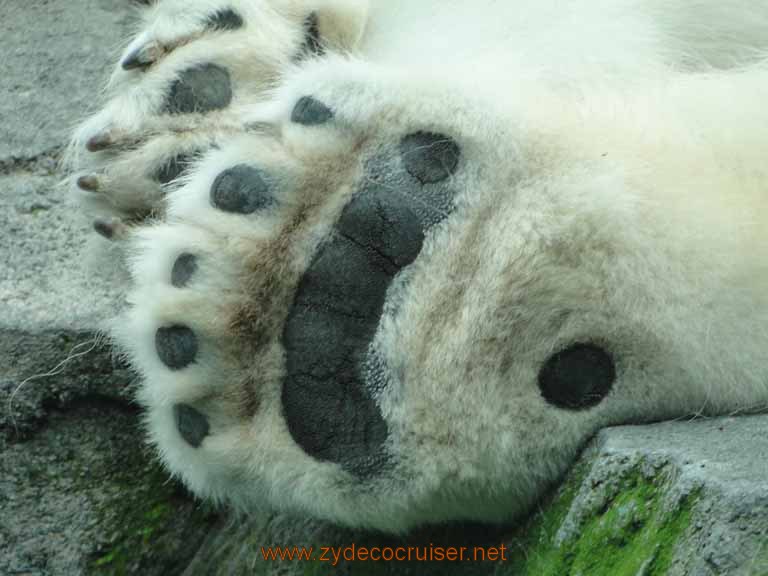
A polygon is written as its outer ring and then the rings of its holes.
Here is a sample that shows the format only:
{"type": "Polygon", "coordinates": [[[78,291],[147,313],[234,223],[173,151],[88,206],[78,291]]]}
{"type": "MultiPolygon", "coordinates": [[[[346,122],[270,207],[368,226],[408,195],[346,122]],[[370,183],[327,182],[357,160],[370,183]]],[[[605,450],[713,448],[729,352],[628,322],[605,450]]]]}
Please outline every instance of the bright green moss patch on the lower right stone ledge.
{"type": "Polygon", "coordinates": [[[664,472],[646,477],[639,467],[619,479],[616,495],[594,516],[582,520],[574,537],[555,535],[580,481],[571,479],[546,511],[535,517],[518,540],[518,553],[497,574],[536,576],[656,576],[667,574],[676,544],[690,523],[696,499],[665,507],[664,472]]]}

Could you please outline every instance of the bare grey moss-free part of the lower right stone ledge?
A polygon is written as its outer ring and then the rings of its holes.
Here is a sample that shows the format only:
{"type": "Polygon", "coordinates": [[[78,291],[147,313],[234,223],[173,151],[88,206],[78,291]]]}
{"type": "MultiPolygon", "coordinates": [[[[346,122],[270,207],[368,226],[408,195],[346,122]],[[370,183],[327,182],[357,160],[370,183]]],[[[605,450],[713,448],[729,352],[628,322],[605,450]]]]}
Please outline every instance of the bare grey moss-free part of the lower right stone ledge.
{"type": "Polygon", "coordinates": [[[577,537],[585,518],[616,496],[622,474],[639,469],[649,479],[665,477],[662,514],[695,500],[669,574],[768,575],[768,416],[611,428],[585,458],[592,468],[558,543],[577,537]]]}

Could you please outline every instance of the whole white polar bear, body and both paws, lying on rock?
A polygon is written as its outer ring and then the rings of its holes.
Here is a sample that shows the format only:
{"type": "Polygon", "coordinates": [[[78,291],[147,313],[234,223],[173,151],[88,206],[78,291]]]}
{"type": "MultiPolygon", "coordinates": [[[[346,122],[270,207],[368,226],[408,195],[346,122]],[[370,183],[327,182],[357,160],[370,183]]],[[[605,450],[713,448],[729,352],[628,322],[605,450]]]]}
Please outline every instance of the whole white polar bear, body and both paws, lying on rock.
{"type": "Polygon", "coordinates": [[[553,2],[145,10],[73,184],[195,493],[507,522],[603,426],[768,403],[768,74],[712,40],[768,9],[553,2]]]}

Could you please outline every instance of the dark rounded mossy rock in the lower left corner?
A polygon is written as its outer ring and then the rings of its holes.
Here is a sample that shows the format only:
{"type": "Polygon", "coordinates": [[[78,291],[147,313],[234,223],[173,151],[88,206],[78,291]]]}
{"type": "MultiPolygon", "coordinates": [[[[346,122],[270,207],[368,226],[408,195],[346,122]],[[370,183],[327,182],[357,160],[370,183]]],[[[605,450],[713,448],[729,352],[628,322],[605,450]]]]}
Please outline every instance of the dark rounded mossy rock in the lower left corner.
{"type": "Polygon", "coordinates": [[[0,435],[0,455],[0,574],[179,574],[213,521],[117,400],[50,408],[23,439],[0,435]]]}

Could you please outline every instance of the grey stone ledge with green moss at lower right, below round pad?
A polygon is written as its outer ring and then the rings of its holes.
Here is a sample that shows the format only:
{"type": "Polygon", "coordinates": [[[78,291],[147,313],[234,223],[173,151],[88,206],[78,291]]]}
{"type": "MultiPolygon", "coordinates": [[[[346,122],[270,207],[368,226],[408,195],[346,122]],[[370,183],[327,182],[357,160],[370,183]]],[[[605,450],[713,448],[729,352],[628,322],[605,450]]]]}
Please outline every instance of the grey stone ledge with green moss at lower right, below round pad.
{"type": "Polygon", "coordinates": [[[547,524],[513,573],[765,576],[768,416],[603,430],[547,524]]]}

